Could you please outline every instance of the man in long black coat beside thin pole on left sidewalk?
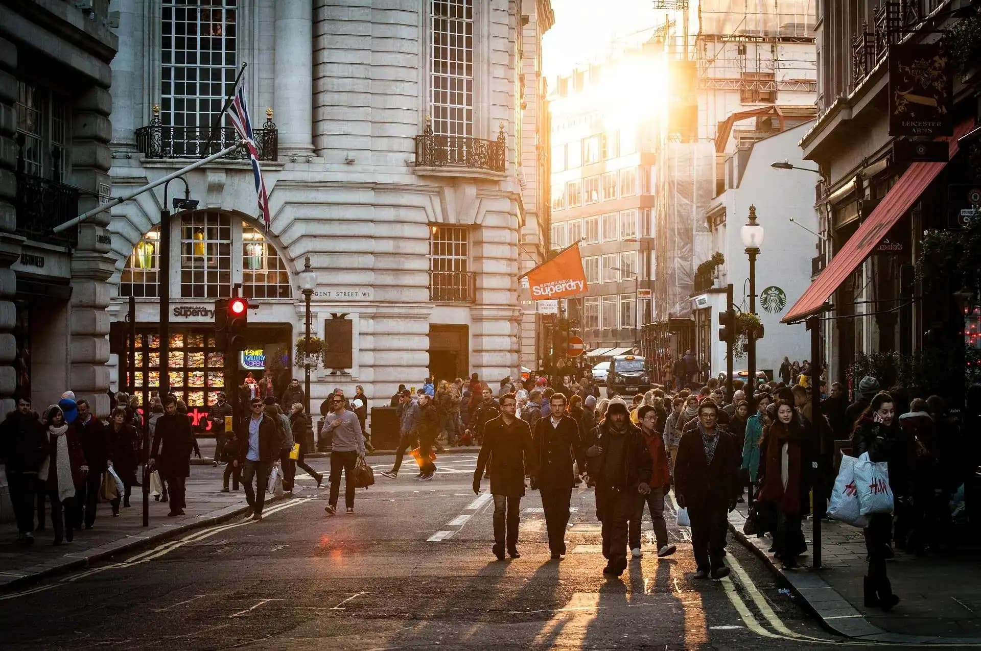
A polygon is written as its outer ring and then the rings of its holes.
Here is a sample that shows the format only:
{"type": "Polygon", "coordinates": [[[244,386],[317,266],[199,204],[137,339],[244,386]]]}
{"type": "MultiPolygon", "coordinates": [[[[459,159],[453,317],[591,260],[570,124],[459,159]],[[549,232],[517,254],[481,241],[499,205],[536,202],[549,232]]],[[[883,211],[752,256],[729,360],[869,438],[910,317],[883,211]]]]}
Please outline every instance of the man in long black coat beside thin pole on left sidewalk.
{"type": "MultiPolygon", "coordinates": [[[[150,467],[160,472],[171,493],[169,517],[184,515],[187,505],[185,483],[190,476],[190,454],[194,450],[194,431],[185,414],[178,413],[178,400],[164,398],[164,415],[157,419],[150,452],[150,467]]],[[[91,473],[89,473],[91,475],[91,473]]]]}

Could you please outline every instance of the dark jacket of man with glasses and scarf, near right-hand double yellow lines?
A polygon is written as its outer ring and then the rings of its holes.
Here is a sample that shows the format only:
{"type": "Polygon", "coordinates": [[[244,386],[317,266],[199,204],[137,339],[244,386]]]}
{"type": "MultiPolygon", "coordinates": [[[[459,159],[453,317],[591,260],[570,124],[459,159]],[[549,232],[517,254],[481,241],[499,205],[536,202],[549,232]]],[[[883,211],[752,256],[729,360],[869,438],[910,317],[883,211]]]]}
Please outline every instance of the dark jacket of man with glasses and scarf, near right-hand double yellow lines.
{"type": "Polygon", "coordinates": [[[701,430],[697,426],[687,429],[678,444],[675,493],[682,497],[688,508],[728,508],[743,490],[736,463],[739,458],[736,440],[723,431],[716,435],[719,440],[710,464],[705,458],[701,430]]]}

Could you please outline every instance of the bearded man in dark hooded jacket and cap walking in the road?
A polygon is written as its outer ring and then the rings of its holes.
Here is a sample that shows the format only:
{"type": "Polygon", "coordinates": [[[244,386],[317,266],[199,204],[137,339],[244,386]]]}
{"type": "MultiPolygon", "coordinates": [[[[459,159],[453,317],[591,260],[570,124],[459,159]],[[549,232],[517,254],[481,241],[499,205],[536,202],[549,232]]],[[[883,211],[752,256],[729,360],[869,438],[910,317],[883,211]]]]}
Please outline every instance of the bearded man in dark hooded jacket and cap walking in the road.
{"type": "Polygon", "coordinates": [[[627,534],[637,496],[650,492],[651,461],[644,433],[630,422],[627,405],[610,404],[596,428],[596,442],[586,452],[594,479],[596,518],[602,523],[604,575],[620,576],[627,568],[627,534]]]}

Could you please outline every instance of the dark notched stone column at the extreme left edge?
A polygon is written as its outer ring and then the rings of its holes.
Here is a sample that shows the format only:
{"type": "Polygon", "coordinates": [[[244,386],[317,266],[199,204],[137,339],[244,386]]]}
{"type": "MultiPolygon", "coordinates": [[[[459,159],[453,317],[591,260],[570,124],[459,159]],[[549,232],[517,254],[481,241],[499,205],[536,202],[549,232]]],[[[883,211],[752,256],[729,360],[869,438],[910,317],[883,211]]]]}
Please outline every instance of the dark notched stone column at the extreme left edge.
{"type": "Polygon", "coordinates": [[[17,372],[14,368],[16,345],[14,325],[17,312],[14,294],[17,275],[10,268],[21,255],[23,237],[18,237],[14,201],[17,197],[17,47],[0,38],[0,414],[14,409],[17,372]]]}

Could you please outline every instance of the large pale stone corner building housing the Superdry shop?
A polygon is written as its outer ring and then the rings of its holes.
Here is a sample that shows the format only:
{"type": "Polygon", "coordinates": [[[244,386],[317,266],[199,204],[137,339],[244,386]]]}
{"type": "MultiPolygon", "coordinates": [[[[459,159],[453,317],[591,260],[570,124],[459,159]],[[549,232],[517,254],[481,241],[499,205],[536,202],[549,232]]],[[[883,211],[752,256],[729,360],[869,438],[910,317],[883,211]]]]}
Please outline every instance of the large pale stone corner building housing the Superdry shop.
{"type": "MultiPolygon", "coordinates": [[[[166,225],[171,301],[161,306],[163,187],[112,210],[107,311],[120,322],[137,297],[138,343],[149,346],[137,360],[137,393],[154,390],[161,309],[172,315],[170,383],[188,407],[206,410],[231,386],[217,375],[207,310],[232,283],[259,303],[250,348],[284,363],[283,378],[302,377],[289,365],[303,334],[307,256],[312,334],[340,357],[348,345],[351,353],[349,366],[314,372],[314,411],[335,386],[350,394],[361,384],[377,406],[399,383],[420,386],[430,375],[515,375],[517,277],[542,259],[547,220],[547,147],[536,143],[547,120],[548,0],[148,0],[112,9],[113,194],[200,157],[247,62],[272,213],[266,231],[246,161],[186,174],[200,203],[166,225]]],[[[227,128],[215,141],[232,139],[227,128]]],[[[183,195],[180,181],[169,195],[183,195]]],[[[238,366],[236,383],[246,370],[238,366]]],[[[118,373],[111,383],[127,384],[118,373]]]]}

